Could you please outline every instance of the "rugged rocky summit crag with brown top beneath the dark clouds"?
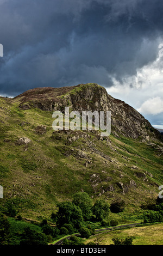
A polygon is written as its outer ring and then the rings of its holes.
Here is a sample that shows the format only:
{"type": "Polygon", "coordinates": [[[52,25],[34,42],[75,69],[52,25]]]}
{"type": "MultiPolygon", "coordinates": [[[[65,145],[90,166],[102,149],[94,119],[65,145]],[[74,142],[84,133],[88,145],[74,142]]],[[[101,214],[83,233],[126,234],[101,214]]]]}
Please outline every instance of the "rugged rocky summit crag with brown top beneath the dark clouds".
{"type": "Polygon", "coordinates": [[[20,108],[40,108],[45,111],[64,112],[65,107],[73,111],[111,111],[111,132],[130,138],[142,138],[142,142],[150,137],[162,140],[161,133],[139,112],[127,103],[108,95],[104,87],[98,84],[80,84],[63,88],[36,88],[15,97],[20,98],[20,108]]]}

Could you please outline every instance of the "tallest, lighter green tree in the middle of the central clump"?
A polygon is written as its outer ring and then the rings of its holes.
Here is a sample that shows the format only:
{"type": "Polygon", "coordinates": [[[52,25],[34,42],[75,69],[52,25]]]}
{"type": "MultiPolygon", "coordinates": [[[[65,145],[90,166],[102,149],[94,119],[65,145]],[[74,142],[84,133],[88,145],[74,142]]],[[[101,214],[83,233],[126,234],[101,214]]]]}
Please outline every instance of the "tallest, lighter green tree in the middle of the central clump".
{"type": "Polygon", "coordinates": [[[86,192],[74,194],[73,203],[82,210],[84,220],[89,220],[92,214],[92,199],[86,192]]]}

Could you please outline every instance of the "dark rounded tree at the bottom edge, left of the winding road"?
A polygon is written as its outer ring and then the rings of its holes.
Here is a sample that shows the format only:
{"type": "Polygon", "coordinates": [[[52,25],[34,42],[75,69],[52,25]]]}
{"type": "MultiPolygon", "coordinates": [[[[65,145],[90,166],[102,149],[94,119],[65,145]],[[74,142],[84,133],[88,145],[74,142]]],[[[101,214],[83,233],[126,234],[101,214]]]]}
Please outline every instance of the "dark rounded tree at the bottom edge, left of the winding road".
{"type": "Polygon", "coordinates": [[[47,236],[41,232],[25,228],[22,235],[20,245],[23,246],[37,246],[37,245],[48,245],[47,236]]]}

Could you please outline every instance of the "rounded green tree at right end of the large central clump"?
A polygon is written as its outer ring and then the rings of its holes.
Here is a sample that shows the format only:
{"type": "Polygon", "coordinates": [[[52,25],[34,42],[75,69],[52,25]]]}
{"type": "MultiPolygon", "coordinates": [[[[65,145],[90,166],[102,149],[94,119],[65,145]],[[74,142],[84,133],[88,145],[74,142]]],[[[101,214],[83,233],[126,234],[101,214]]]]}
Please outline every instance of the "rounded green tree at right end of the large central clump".
{"type": "Polygon", "coordinates": [[[102,221],[109,215],[109,204],[104,199],[96,200],[92,208],[93,214],[98,221],[102,221]]]}

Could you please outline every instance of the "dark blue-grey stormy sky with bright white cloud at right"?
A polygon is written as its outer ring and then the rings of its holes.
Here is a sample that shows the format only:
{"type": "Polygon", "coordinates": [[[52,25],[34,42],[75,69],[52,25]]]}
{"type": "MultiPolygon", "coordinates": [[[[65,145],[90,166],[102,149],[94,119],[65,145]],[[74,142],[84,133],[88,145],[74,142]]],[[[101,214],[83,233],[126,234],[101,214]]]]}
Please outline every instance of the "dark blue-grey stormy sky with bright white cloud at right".
{"type": "Polygon", "coordinates": [[[0,95],[98,83],[163,127],[162,0],[0,0],[0,10],[0,95]]]}

